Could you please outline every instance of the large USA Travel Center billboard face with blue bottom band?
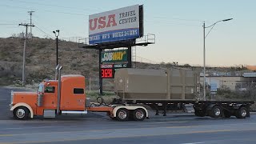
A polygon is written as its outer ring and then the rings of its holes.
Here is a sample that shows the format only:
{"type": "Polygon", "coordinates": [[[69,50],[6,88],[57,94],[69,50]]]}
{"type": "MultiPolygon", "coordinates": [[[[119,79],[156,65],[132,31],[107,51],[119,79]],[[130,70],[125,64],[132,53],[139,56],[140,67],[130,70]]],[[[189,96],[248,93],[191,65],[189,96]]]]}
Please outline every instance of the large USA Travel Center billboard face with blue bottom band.
{"type": "Polygon", "coordinates": [[[139,38],[139,5],[89,16],[89,43],[139,38]]]}

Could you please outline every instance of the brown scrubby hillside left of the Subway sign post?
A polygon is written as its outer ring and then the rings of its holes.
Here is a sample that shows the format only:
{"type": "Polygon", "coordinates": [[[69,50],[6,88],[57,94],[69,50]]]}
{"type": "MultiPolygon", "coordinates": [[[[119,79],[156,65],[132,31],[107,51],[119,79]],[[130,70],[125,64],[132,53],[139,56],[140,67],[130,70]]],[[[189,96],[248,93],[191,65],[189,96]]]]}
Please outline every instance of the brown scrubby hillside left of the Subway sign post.
{"type": "MultiPolygon", "coordinates": [[[[22,38],[0,38],[0,85],[20,83],[22,80],[22,38]]],[[[98,75],[98,51],[78,48],[74,42],[59,41],[59,63],[62,74],[98,75]]],[[[26,48],[26,82],[54,78],[56,43],[54,39],[33,38],[26,48]]]]}

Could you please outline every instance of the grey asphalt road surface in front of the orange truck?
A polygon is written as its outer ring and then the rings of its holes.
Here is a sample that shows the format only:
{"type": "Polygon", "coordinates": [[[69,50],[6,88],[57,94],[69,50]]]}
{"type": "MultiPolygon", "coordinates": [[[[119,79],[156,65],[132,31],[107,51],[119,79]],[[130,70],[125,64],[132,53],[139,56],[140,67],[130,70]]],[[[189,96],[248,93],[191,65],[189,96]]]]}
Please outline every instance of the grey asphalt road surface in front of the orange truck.
{"type": "Polygon", "coordinates": [[[154,116],[143,122],[117,122],[104,114],[87,118],[34,118],[9,114],[10,90],[0,88],[2,143],[256,143],[256,114],[250,118],[197,118],[194,114],[154,116]]]}

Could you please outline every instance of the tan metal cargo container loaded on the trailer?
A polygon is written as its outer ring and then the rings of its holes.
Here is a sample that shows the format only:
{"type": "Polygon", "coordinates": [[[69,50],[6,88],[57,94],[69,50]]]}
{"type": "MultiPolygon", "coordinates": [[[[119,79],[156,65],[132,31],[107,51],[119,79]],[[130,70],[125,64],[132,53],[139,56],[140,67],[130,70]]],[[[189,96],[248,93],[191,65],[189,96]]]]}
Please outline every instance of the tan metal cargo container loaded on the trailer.
{"type": "Polygon", "coordinates": [[[123,100],[193,100],[199,74],[194,70],[119,69],[114,81],[123,100]]]}

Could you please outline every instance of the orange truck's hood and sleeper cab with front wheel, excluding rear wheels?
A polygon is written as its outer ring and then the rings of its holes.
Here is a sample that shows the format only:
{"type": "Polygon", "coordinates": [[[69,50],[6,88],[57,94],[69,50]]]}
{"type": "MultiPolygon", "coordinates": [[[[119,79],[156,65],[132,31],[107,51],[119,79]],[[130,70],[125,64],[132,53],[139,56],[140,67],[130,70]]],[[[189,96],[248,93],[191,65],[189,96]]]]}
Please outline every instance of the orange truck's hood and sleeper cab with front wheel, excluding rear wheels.
{"type": "Polygon", "coordinates": [[[39,84],[37,92],[12,92],[10,110],[17,119],[34,115],[54,118],[56,114],[86,114],[85,87],[85,77],[78,74],[63,75],[60,82],[45,80],[39,84]]]}

